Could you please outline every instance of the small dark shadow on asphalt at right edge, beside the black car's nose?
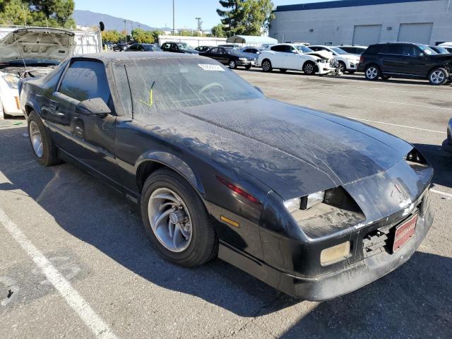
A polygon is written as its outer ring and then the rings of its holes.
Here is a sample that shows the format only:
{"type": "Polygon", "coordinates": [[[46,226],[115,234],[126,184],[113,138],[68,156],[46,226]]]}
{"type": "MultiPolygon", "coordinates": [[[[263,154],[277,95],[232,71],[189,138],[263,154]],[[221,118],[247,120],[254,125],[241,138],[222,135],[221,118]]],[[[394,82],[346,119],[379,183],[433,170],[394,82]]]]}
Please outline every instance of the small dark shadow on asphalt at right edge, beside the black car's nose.
{"type": "Polygon", "coordinates": [[[434,169],[432,183],[452,188],[452,154],[443,150],[440,145],[416,143],[415,147],[427,157],[434,169]]]}

